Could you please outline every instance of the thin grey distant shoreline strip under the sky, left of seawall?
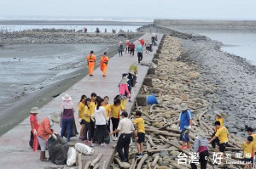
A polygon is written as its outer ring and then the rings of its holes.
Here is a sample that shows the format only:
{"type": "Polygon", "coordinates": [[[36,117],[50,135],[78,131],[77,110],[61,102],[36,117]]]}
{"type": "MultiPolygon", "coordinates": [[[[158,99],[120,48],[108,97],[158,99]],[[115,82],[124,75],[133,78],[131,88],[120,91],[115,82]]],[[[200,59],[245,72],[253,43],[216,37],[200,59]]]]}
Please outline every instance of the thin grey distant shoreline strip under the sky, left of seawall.
{"type": "Polygon", "coordinates": [[[0,20],[0,25],[148,25],[153,22],[108,20],[0,20]]]}

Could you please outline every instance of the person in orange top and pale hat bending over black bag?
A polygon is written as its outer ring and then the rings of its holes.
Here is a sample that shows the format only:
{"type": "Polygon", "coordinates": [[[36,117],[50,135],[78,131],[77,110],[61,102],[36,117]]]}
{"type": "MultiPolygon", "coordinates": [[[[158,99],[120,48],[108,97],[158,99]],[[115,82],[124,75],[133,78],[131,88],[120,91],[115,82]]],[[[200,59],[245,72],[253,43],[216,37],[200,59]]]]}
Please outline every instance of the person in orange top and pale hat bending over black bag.
{"type": "Polygon", "coordinates": [[[59,124],[60,121],[61,121],[60,115],[54,112],[54,113],[51,113],[48,117],[44,118],[44,120],[41,122],[38,128],[38,141],[41,147],[41,153],[40,153],[41,161],[48,161],[48,159],[45,157],[47,140],[50,137],[57,139],[53,130],[54,122],[59,124]]]}

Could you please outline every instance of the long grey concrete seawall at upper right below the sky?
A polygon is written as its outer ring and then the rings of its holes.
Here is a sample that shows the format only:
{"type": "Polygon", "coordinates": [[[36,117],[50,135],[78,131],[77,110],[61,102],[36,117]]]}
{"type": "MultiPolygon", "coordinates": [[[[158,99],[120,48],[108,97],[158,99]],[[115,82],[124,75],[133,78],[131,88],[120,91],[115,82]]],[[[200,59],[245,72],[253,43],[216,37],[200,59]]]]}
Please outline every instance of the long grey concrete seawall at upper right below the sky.
{"type": "Polygon", "coordinates": [[[154,20],[154,24],[182,29],[256,31],[256,20],[154,20]]]}

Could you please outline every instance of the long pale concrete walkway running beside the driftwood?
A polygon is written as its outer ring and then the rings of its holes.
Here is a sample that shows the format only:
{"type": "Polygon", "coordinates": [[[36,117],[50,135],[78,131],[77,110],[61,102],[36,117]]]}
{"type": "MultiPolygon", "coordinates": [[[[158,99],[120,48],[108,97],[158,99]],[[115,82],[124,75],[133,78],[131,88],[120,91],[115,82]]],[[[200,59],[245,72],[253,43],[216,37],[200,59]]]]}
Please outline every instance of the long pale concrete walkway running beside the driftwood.
{"type": "MultiPolygon", "coordinates": [[[[143,37],[144,40],[151,41],[152,34],[145,34],[143,37]]],[[[162,35],[158,35],[159,41],[162,35]]],[[[137,45],[139,42],[136,41],[137,45]]],[[[143,61],[150,61],[154,57],[154,53],[157,47],[153,48],[153,52],[149,54],[143,54],[143,61]]],[[[100,56],[97,56],[100,57],[100,56]]],[[[81,81],[77,82],[73,87],[70,87],[65,93],[68,93],[73,98],[73,103],[79,104],[79,99],[82,94],[85,94],[87,97],[90,97],[90,93],[96,93],[97,95],[104,97],[109,97],[109,103],[113,103],[113,98],[119,93],[119,82],[121,81],[122,73],[126,73],[129,69],[129,66],[137,62],[137,54],[134,57],[131,57],[130,54],[123,54],[123,57],[119,57],[119,54],[113,56],[108,62],[108,71],[107,77],[102,77],[102,71],[100,68],[97,68],[94,71],[94,76],[85,76],[81,81]]],[[[85,60],[84,60],[85,64],[85,60]]],[[[140,87],[143,84],[143,79],[148,73],[148,66],[138,65],[138,77],[137,77],[137,86],[134,87],[134,92],[137,95],[140,87]]],[[[42,121],[44,117],[48,116],[49,113],[55,111],[60,112],[61,108],[61,97],[65,94],[62,93],[60,96],[56,97],[48,104],[45,104],[40,110],[41,114],[38,114],[38,120],[42,121]]],[[[134,100],[134,98],[131,98],[134,100]]],[[[131,111],[133,103],[127,102],[126,110],[131,111]]],[[[76,125],[78,132],[80,130],[79,120],[78,120],[78,110],[75,112],[76,125]]],[[[58,125],[55,125],[55,132],[60,133],[61,128],[58,125]]],[[[29,117],[26,120],[20,122],[19,125],[14,127],[9,132],[3,134],[0,137],[0,167],[1,168],[68,168],[67,165],[57,166],[52,162],[42,162],[39,160],[39,151],[33,152],[31,147],[28,144],[30,138],[30,122],[29,117]]],[[[82,143],[79,140],[79,136],[76,138],[71,138],[71,143],[82,143]]],[[[115,144],[115,143],[111,143],[115,144]]],[[[103,161],[111,162],[111,158],[114,153],[112,148],[101,148],[96,146],[94,155],[82,155],[83,166],[87,161],[93,161],[96,156],[102,152],[102,159],[100,164],[102,166],[103,161]]],[[[48,152],[46,153],[48,156],[48,152]]]]}

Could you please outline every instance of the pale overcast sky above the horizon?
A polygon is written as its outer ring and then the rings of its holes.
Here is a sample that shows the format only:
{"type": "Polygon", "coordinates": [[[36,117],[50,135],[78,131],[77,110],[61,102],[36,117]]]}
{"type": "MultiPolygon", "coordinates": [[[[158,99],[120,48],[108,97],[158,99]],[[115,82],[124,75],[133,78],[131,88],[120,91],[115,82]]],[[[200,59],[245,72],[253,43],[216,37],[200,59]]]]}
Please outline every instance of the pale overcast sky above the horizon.
{"type": "Polygon", "coordinates": [[[0,0],[0,16],[256,20],[256,0],[0,0]]]}

